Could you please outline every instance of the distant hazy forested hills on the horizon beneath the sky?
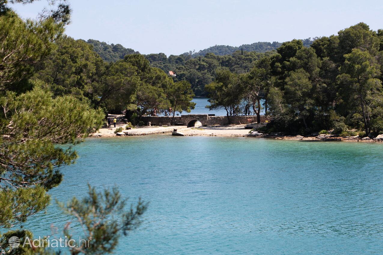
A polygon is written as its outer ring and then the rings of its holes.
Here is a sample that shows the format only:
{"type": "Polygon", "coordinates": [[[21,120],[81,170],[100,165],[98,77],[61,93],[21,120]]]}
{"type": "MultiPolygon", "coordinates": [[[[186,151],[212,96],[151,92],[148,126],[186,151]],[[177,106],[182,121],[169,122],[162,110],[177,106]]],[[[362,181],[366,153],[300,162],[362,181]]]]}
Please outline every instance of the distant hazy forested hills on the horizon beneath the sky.
{"type": "MultiPolygon", "coordinates": [[[[302,40],[303,45],[308,47],[315,39],[302,40]]],[[[96,40],[88,40],[93,45],[93,50],[107,62],[115,62],[123,59],[126,54],[137,54],[133,49],[126,49],[121,44],[106,44],[96,40]]],[[[164,53],[144,55],[152,67],[162,69],[165,73],[174,71],[177,76],[174,81],[188,81],[196,96],[206,96],[205,85],[214,80],[217,68],[226,67],[236,73],[249,72],[258,60],[264,55],[275,53],[280,47],[279,42],[255,42],[243,44],[239,47],[215,45],[199,52],[188,52],[181,55],[164,53]]]]}

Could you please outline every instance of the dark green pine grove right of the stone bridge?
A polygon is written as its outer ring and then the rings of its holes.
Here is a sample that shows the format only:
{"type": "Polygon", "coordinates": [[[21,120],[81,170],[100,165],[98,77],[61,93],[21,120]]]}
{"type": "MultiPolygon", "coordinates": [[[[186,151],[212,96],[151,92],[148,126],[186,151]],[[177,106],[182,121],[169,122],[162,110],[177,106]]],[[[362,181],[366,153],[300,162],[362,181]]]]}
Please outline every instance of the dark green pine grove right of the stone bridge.
{"type": "Polygon", "coordinates": [[[347,133],[354,128],[377,135],[383,132],[382,71],[383,30],[359,23],[311,47],[284,42],[248,73],[221,68],[205,89],[210,108],[228,115],[259,115],[265,107],[273,117],[267,132],[355,135],[347,133]]]}

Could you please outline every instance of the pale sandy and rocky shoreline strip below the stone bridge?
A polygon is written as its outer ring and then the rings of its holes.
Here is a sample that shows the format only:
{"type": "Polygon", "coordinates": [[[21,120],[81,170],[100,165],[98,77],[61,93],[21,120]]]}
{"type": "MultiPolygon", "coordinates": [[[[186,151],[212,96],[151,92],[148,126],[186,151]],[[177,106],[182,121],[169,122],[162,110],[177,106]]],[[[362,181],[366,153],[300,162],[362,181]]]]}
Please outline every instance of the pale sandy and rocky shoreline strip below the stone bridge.
{"type": "MultiPolygon", "coordinates": [[[[116,128],[125,127],[125,125],[116,125],[116,128]]],[[[141,136],[141,135],[157,135],[171,133],[173,129],[183,133],[185,136],[223,136],[223,137],[250,137],[250,138],[267,138],[275,140],[300,140],[300,141],[346,141],[346,142],[382,142],[374,139],[359,138],[358,136],[340,137],[335,135],[317,135],[317,136],[301,136],[301,135],[270,135],[258,132],[249,133],[249,129],[245,129],[242,125],[216,125],[208,127],[187,127],[187,126],[152,126],[152,127],[136,127],[131,130],[123,130],[125,135],[116,135],[116,128],[100,128],[98,132],[93,133],[90,137],[121,137],[121,136],[141,136]]]]}

